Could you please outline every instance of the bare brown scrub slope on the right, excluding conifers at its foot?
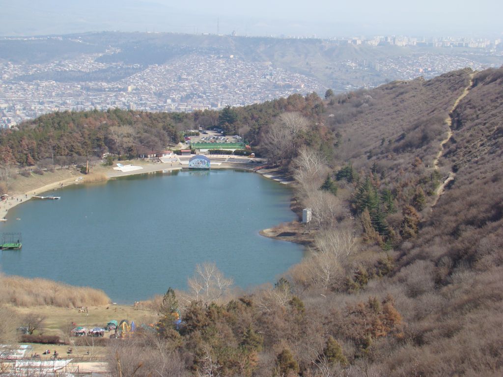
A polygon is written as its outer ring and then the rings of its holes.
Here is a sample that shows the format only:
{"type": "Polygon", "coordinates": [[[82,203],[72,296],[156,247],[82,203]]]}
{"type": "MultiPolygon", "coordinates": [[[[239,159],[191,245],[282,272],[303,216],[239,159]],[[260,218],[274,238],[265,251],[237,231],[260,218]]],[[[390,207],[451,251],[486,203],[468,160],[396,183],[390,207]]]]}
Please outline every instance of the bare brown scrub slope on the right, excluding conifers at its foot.
{"type": "MultiPolygon", "coordinates": [[[[368,375],[501,373],[503,69],[475,73],[468,95],[450,114],[453,136],[440,159],[440,180],[451,170],[455,178],[433,208],[429,204],[435,201],[428,198],[436,170],[432,161],[448,130],[444,117],[469,83],[469,73],[391,83],[355,93],[327,110],[334,114],[327,121],[343,140],[335,150],[336,161],[342,165],[349,157],[362,172],[373,166],[382,177],[380,184],[395,194],[395,205],[416,206],[419,217],[417,234],[406,237],[406,211],[388,215],[403,238],[394,247],[396,266],[389,277],[371,280],[359,294],[390,295],[403,317],[403,333],[376,337],[369,347],[373,365],[368,375]],[[362,102],[368,107],[359,110],[362,102]],[[417,208],[420,186],[426,203],[417,208]]],[[[355,203],[354,197],[350,202],[355,203]]],[[[356,298],[333,299],[327,304],[315,298],[311,305],[330,312],[356,298]]]]}

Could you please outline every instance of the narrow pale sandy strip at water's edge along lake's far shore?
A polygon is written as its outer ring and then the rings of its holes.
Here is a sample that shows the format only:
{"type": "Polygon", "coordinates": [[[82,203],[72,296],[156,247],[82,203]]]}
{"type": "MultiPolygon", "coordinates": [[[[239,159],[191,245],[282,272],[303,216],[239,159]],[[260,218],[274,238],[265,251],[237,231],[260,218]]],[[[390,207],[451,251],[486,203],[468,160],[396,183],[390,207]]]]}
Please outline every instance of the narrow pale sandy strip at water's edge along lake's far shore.
{"type": "MultiPolygon", "coordinates": [[[[243,159],[237,158],[237,156],[218,156],[215,158],[225,158],[225,162],[220,162],[219,165],[212,165],[211,169],[245,169],[245,170],[253,170],[254,168],[260,166],[258,164],[254,163],[246,163],[246,162],[239,162],[243,159]],[[236,161],[232,161],[234,158],[236,158],[236,161]],[[227,161],[228,160],[228,161],[227,161]]],[[[121,161],[122,162],[122,161],[121,161]]],[[[180,158],[177,156],[173,159],[169,159],[167,162],[160,162],[160,163],[151,163],[151,162],[145,162],[141,160],[134,160],[134,161],[124,161],[125,163],[132,163],[136,166],[141,166],[142,169],[140,170],[133,170],[133,171],[118,171],[112,169],[112,166],[97,166],[95,169],[93,169],[94,172],[98,174],[103,174],[106,179],[111,179],[111,178],[117,178],[117,177],[124,177],[128,175],[136,175],[136,174],[148,174],[148,173],[154,173],[154,172],[159,172],[159,171],[171,171],[171,170],[182,170],[184,167],[187,168],[188,164],[183,163],[180,158]]],[[[114,164],[115,165],[115,164],[114,164]]],[[[263,174],[264,176],[281,181],[281,179],[278,179],[276,176],[268,176],[266,174],[263,174]],[[276,178],[276,179],[275,179],[276,178]]],[[[37,187],[35,189],[31,189],[22,193],[18,193],[16,195],[13,195],[9,197],[5,202],[0,204],[0,218],[7,218],[7,214],[10,209],[16,207],[19,204],[26,203],[30,199],[32,199],[34,196],[40,196],[42,193],[46,193],[48,191],[52,190],[57,190],[61,189],[62,187],[67,187],[71,184],[80,184],[80,183],[92,183],[93,175],[91,174],[90,176],[86,176],[86,174],[82,174],[79,176],[72,176],[71,178],[65,178],[65,179],[58,179],[55,180],[54,182],[45,184],[43,186],[37,187]],[[81,179],[79,179],[81,177],[81,179]],[[88,181],[86,178],[91,178],[91,181],[88,181]]]]}

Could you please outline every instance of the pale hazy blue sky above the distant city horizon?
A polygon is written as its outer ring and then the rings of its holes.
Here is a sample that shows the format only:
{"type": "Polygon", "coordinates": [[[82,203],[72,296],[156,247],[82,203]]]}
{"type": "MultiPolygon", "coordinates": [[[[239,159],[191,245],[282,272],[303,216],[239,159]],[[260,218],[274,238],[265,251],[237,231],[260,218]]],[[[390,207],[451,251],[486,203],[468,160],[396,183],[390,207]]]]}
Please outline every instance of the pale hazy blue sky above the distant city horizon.
{"type": "Polygon", "coordinates": [[[503,1],[496,0],[0,0],[0,35],[503,36],[502,15],[503,1]]]}

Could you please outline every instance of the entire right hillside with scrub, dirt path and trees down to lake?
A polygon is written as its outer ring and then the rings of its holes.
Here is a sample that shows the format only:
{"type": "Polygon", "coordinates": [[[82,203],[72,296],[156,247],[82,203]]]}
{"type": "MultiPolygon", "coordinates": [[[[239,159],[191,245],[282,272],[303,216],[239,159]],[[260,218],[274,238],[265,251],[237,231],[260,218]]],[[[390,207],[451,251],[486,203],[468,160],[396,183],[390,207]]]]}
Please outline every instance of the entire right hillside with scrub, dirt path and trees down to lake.
{"type": "Polygon", "coordinates": [[[111,345],[113,372],[118,358],[137,376],[501,375],[502,89],[503,68],[465,69],[228,109],[297,180],[313,221],[281,229],[314,234],[312,253],[226,298],[201,268],[194,291],[154,303],[158,336],[111,345]]]}

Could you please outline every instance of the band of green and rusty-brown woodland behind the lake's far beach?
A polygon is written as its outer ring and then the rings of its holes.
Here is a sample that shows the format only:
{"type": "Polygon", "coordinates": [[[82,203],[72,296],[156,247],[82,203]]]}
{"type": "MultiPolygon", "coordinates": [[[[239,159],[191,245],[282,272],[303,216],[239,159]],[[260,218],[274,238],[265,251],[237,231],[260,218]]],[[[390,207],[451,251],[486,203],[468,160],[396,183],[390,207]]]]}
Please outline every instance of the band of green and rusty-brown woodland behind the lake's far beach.
{"type": "Polygon", "coordinates": [[[0,131],[0,163],[33,166],[53,157],[74,163],[79,157],[100,157],[107,152],[135,157],[140,150],[166,149],[170,143],[183,141],[186,130],[199,127],[218,126],[229,135],[244,134],[249,143],[258,146],[262,128],[282,112],[311,116],[321,114],[322,107],[321,99],[311,93],[242,108],[227,107],[221,112],[57,112],[0,131]]]}

